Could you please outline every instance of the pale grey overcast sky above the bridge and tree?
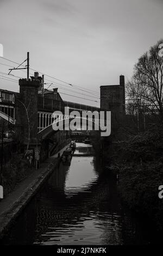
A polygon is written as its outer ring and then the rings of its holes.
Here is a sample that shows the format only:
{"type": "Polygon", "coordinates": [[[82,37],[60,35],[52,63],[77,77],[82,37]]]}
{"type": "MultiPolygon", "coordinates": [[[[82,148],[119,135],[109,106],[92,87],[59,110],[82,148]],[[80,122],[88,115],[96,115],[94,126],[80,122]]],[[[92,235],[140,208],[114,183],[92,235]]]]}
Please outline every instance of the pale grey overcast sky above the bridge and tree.
{"type": "MultiPolygon", "coordinates": [[[[101,85],[118,84],[121,74],[127,80],[141,54],[163,38],[162,17],[163,0],[0,0],[0,43],[4,58],[21,63],[29,51],[31,68],[99,92],[101,85]]],[[[0,63],[16,66],[1,58],[0,63]]],[[[8,68],[0,64],[1,72],[8,68]]],[[[26,77],[22,71],[12,74],[26,77]]],[[[15,82],[0,84],[19,90],[15,82]]],[[[96,100],[83,94],[77,96],[96,100]]]]}

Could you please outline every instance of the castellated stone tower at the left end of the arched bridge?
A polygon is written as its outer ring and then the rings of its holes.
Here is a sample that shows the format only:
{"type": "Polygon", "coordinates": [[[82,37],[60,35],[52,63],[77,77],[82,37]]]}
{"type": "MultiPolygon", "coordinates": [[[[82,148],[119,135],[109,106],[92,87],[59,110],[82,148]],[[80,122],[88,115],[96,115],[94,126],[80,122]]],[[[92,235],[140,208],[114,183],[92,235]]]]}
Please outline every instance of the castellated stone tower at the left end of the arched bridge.
{"type": "Polygon", "coordinates": [[[40,81],[20,79],[20,119],[22,124],[22,142],[24,145],[36,144],[38,114],[37,100],[40,81]]]}

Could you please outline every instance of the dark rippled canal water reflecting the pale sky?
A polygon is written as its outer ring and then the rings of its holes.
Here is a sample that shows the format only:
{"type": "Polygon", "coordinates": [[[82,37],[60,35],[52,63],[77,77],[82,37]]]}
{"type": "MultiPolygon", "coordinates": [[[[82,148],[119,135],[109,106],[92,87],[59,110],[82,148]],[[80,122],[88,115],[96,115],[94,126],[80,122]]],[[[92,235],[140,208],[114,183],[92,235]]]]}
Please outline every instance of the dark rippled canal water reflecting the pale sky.
{"type": "Polygon", "coordinates": [[[60,162],[1,244],[140,245],[152,242],[141,221],[122,207],[114,176],[103,170],[91,153],[91,145],[77,143],[71,164],[60,162]]]}

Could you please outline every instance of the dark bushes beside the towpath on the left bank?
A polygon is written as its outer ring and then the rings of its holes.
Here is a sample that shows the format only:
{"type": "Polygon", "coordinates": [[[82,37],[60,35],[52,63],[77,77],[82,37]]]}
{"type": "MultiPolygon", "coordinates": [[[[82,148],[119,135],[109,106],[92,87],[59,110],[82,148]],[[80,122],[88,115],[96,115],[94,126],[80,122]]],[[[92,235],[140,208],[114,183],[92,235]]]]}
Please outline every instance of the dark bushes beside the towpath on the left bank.
{"type": "Polygon", "coordinates": [[[4,188],[4,197],[12,192],[21,180],[32,173],[33,167],[22,154],[13,154],[10,161],[3,164],[2,185],[4,188]]]}

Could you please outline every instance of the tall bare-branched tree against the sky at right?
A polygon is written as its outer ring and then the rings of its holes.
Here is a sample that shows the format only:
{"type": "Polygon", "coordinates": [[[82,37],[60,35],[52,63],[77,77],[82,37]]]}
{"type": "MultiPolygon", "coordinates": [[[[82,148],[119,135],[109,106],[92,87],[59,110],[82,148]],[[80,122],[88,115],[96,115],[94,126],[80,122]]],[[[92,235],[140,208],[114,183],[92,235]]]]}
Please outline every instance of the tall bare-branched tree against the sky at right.
{"type": "MultiPolygon", "coordinates": [[[[130,102],[140,104],[148,111],[163,117],[163,57],[159,56],[163,40],[152,46],[135,64],[134,75],[127,83],[130,102]]],[[[131,109],[130,109],[131,110],[131,109]]]]}

